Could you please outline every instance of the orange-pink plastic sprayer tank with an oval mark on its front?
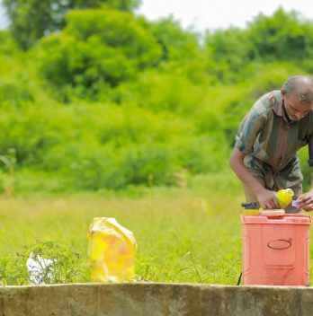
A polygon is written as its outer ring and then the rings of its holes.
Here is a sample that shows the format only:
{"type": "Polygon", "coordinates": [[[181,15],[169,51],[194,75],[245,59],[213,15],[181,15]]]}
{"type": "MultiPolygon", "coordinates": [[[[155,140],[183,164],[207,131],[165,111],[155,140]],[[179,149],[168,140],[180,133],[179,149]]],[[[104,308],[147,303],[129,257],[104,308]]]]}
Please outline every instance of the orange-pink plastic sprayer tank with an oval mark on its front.
{"type": "Polygon", "coordinates": [[[309,215],[241,215],[240,219],[244,285],[309,284],[309,215]]]}

